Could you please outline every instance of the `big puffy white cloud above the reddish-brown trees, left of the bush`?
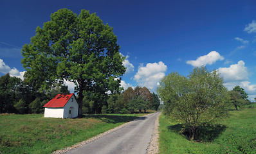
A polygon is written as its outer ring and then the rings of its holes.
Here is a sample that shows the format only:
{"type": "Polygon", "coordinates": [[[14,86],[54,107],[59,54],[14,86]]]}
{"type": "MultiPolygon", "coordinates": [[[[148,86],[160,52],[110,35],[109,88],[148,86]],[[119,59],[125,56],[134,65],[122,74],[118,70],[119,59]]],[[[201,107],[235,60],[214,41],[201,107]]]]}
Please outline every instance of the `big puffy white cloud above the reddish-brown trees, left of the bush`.
{"type": "Polygon", "coordinates": [[[158,82],[165,76],[165,71],[167,71],[167,65],[163,62],[148,63],[145,67],[141,65],[138,73],[134,76],[134,80],[141,87],[147,87],[149,90],[154,91],[158,86],[158,82]]]}

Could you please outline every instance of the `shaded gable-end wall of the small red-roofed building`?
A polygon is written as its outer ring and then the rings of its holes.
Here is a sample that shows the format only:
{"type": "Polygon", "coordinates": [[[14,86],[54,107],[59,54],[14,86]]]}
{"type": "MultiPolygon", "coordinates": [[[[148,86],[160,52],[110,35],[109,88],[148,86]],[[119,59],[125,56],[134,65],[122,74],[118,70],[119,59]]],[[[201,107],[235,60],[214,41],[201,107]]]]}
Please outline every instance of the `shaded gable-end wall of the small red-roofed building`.
{"type": "Polygon", "coordinates": [[[70,107],[73,107],[71,118],[77,117],[78,116],[78,103],[77,103],[77,100],[75,99],[74,95],[69,99],[68,103],[66,103],[66,105],[64,107],[63,118],[69,117],[69,108],[70,107]],[[72,102],[72,98],[73,98],[73,102],[72,102]]]}

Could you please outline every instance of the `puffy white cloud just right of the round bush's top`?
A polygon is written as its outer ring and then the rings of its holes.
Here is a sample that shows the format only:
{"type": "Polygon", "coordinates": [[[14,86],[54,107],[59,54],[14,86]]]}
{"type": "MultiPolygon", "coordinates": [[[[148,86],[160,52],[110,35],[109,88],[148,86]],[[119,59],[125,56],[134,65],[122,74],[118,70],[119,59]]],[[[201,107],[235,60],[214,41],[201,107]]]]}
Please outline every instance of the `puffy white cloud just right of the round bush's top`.
{"type": "Polygon", "coordinates": [[[225,83],[248,80],[248,70],[242,60],[230,67],[220,67],[218,73],[223,77],[225,83]]]}

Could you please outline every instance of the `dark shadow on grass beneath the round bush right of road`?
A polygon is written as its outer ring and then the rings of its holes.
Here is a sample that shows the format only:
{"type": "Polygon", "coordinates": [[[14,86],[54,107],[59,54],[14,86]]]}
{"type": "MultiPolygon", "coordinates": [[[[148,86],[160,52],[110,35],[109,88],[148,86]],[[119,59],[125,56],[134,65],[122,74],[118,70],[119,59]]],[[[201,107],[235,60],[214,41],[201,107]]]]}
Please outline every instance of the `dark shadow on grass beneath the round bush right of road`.
{"type": "MultiPolygon", "coordinates": [[[[184,135],[189,139],[189,130],[188,128],[183,127],[183,124],[175,124],[172,126],[167,126],[170,132],[175,132],[184,135]]],[[[198,131],[195,136],[195,141],[199,142],[212,142],[214,139],[217,139],[221,133],[226,130],[226,126],[221,124],[206,124],[198,128],[198,131]]]]}

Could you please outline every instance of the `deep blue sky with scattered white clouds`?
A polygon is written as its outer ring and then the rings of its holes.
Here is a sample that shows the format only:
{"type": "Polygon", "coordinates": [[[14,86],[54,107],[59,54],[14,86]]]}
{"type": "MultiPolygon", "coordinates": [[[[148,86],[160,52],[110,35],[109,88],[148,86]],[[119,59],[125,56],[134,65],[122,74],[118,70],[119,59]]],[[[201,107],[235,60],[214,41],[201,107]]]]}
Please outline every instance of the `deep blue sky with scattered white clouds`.
{"type": "MultiPolygon", "coordinates": [[[[256,98],[256,1],[0,1],[0,76],[24,74],[21,49],[60,8],[89,10],[113,27],[126,56],[122,86],[156,91],[172,71],[217,69],[256,98]]],[[[72,85],[67,81],[69,89],[72,85]]]]}

